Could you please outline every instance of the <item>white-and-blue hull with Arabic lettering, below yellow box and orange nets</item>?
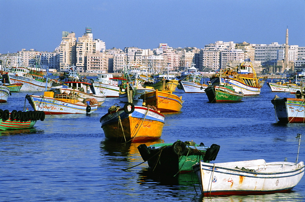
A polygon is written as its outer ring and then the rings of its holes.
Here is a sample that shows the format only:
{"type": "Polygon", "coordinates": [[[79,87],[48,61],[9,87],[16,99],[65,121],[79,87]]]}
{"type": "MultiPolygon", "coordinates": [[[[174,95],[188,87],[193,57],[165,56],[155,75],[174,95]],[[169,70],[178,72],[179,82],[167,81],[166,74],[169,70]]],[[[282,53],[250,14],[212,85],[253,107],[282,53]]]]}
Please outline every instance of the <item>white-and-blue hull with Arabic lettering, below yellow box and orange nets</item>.
{"type": "Polygon", "coordinates": [[[90,105],[90,112],[87,112],[87,105],[73,104],[60,101],[52,97],[40,97],[27,95],[27,100],[35,111],[43,111],[48,114],[91,114],[97,110],[98,105],[90,105]]]}

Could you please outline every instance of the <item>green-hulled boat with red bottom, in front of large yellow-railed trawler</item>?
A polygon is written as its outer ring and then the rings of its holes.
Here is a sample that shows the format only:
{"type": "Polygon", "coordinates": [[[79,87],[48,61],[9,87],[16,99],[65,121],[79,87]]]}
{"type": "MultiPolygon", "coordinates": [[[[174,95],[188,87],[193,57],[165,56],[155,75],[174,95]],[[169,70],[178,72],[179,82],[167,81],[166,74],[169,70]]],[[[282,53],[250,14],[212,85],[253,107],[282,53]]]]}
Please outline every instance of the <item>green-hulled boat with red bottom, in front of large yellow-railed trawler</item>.
{"type": "Polygon", "coordinates": [[[244,94],[235,92],[231,85],[210,86],[205,89],[209,102],[240,102],[244,94]]]}

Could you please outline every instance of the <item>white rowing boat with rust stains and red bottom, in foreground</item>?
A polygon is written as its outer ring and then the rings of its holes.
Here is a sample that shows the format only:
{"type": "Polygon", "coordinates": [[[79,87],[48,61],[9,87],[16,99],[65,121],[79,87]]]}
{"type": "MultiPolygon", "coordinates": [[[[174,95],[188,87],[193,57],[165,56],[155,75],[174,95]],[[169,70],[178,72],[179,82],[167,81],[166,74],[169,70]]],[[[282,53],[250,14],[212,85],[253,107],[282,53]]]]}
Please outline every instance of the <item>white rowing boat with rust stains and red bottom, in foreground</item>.
{"type": "Polygon", "coordinates": [[[295,165],[266,163],[263,159],[219,164],[200,161],[193,169],[205,197],[285,192],[296,186],[304,174],[303,161],[295,165]]]}

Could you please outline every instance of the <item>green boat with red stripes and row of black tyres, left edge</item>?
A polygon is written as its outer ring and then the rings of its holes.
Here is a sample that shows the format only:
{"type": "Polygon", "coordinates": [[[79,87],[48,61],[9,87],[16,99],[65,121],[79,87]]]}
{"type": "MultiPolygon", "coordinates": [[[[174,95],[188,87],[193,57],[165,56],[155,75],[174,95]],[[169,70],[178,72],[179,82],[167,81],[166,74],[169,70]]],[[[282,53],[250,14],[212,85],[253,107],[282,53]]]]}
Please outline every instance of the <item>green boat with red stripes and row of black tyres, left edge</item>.
{"type": "Polygon", "coordinates": [[[43,121],[45,114],[36,111],[17,111],[0,109],[0,130],[32,128],[37,120],[43,121]]]}

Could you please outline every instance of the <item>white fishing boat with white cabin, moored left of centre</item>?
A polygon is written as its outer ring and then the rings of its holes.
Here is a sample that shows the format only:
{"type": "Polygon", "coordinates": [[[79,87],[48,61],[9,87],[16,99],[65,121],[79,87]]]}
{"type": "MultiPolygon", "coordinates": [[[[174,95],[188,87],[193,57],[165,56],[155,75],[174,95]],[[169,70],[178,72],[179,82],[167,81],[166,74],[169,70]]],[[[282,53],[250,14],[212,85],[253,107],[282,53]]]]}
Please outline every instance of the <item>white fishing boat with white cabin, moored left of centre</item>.
{"type": "Polygon", "coordinates": [[[120,89],[124,89],[124,78],[113,77],[112,74],[98,74],[97,79],[91,79],[96,95],[104,94],[106,97],[119,97],[120,89]]]}

